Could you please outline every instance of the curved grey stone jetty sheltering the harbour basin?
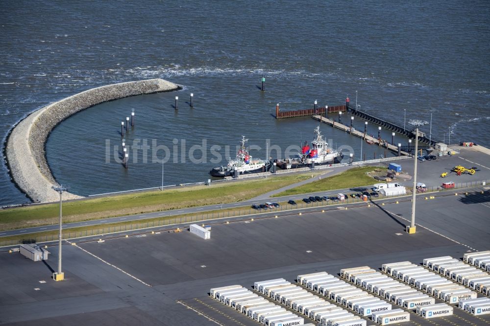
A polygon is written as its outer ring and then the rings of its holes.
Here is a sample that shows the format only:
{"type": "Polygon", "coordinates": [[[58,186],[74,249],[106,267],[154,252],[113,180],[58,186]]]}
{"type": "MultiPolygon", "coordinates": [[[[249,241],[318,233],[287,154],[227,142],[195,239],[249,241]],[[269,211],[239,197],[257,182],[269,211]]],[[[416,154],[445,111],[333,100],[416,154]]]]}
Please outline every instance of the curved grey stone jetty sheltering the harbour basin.
{"type": "MultiPolygon", "coordinates": [[[[74,94],[34,111],[12,129],[6,142],[5,154],[14,182],[34,202],[59,200],[59,194],[51,188],[57,183],[45,152],[49,133],[58,123],[102,102],[178,89],[181,87],[177,84],[159,78],[112,84],[74,94]]],[[[70,192],[63,194],[63,199],[76,198],[82,197],[70,192]]]]}

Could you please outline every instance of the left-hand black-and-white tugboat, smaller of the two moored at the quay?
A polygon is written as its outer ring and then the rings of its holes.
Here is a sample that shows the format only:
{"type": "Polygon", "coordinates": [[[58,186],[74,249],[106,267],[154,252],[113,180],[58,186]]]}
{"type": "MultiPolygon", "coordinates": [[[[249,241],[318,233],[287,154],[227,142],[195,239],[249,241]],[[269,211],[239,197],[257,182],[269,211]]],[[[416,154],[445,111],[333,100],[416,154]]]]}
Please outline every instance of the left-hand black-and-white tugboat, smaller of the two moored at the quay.
{"type": "Polygon", "coordinates": [[[267,172],[272,165],[269,161],[264,161],[260,159],[252,159],[252,157],[248,154],[245,143],[248,140],[245,139],[245,136],[242,136],[242,140],[240,141],[240,150],[237,153],[237,159],[231,160],[228,162],[226,166],[219,166],[213,168],[209,171],[213,177],[228,177],[234,175],[234,170],[237,170],[238,174],[245,173],[258,173],[258,172],[267,172]]]}

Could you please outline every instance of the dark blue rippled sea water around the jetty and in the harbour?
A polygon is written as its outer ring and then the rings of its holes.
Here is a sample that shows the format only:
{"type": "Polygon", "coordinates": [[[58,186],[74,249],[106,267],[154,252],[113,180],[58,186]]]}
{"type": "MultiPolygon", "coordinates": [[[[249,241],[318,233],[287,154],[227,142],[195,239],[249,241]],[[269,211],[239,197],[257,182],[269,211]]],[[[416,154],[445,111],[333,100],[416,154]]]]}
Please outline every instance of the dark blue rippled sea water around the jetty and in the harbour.
{"type": "MultiPolygon", "coordinates": [[[[171,151],[163,166],[167,185],[207,179],[241,135],[260,146],[251,149],[254,156],[266,157],[266,140],[284,154],[311,140],[317,124],[273,119],[276,103],[283,110],[309,108],[315,99],[340,105],[348,94],[354,104],[356,91],[361,109],[374,115],[403,125],[405,114],[406,122],[432,114],[434,139],[447,142],[451,132],[452,143],[490,146],[489,14],[488,1],[10,1],[1,14],[0,131],[5,136],[33,110],[92,87],[156,77],[183,85],[177,93],[98,105],[53,131],[47,144],[53,174],[84,195],[159,186],[162,164],[154,159],[165,152],[159,145],[171,151]],[[262,74],[265,93],[257,89],[262,74]],[[190,93],[194,109],[185,104],[190,93]],[[140,142],[124,170],[113,155],[106,163],[106,143],[120,144],[120,121],[131,109],[137,123],[127,140],[140,142]],[[146,163],[143,140],[151,147],[146,163]],[[189,151],[203,140],[205,162],[190,162],[189,151]],[[213,145],[221,149],[212,152],[213,145]]],[[[322,131],[332,146],[360,158],[359,139],[328,126],[322,131]]],[[[377,126],[369,132],[376,135],[377,126]]],[[[391,140],[391,133],[383,136],[391,140]]],[[[384,155],[364,144],[363,155],[374,152],[384,155]]],[[[199,150],[194,154],[199,158],[199,150]]],[[[0,204],[25,201],[3,165],[0,204]]]]}

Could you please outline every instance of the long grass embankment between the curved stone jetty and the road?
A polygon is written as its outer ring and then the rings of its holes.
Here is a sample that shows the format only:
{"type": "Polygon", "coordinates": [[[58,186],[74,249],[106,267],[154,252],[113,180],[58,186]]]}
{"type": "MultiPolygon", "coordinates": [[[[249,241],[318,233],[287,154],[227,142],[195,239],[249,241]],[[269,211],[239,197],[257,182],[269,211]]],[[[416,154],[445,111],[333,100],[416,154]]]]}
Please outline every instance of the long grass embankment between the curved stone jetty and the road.
{"type": "MultiPolygon", "coordinates": [[[[315,172],[318,175],[321,172],[315,172]]],[[[312,173],[274,176],[267,179],[223,182],[63,203],[65,223],[99,218],[235,203],[311,178],[312,173]]],[[[59,204],[0,210],[0,230],[50,225],[58,222],[59,204]]]]}

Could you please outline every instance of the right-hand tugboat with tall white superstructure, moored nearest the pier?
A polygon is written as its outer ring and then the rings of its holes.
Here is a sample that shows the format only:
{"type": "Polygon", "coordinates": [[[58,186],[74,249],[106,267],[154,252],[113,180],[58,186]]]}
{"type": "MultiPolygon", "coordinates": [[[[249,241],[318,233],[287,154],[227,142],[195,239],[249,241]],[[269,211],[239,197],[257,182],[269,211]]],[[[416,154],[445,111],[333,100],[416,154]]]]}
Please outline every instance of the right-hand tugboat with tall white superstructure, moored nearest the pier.
{"type": "Polygon", "coordinates": [[[320,134],[320,126],[317,126],[315,129],[315,139],[311,142],[311,147],[305,141],[300,155],[294,155],[286,159],[277,159],[274,162],[281,169],[294,169],[311,166],[312,162],[318,165],[340,163],[342,159],[343,154],[328,146],[328,143],[320,134]]]}

